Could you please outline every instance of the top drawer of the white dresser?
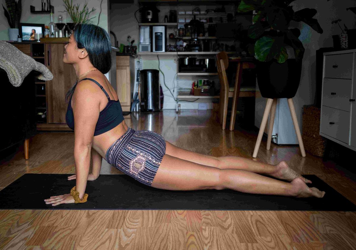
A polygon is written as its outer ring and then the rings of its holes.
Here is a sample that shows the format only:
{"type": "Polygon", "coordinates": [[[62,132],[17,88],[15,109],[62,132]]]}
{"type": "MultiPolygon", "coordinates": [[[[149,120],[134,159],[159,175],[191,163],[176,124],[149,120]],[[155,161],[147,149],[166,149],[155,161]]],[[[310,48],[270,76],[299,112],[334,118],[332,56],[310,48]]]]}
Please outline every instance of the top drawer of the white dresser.
{"type": "Polygon", "coordinates": [[[325,56],[324,77],[351,79],[353,53],[325,56]]]}

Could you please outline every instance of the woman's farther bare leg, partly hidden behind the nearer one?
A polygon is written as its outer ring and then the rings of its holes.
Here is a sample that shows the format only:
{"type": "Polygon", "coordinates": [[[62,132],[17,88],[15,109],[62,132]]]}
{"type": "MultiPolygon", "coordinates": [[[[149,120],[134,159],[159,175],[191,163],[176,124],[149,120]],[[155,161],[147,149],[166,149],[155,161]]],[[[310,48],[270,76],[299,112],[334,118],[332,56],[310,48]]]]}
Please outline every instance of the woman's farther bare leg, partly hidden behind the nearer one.
{"type": "Polygon", "coordinates": [[[216,167],[220,169],[246,170],[254,173],[273,176],[287,181],[292,181],[296,177],[300,177],[304,182],[312,183],[310,180],[305,179],[303,176],[292,170],[292,168],[290,168],[285,161],[281,161],[277,165],[270,165],[240,156],[215,157],[210,155],[202,155],[200,153],[174,146],[168,141],[166,141],[166,154],[183,160],[192,161],[201,165],[216,167]]]}

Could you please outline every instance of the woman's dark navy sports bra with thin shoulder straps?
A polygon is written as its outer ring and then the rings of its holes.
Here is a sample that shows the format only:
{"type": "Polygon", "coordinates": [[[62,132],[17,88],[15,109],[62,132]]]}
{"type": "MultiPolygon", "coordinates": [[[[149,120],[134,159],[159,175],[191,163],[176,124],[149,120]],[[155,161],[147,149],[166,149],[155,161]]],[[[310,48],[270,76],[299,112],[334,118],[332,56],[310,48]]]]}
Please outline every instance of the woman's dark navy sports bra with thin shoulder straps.
{"type": "MultiPolygon", "coordinates": [[[[99,113],[99,119],[95,126],[94,136],[103,134],[109,131],[110,129],[113,129],[117,125],[119,125],[124,120],[120,101],[110,100],[108,93],[105,91],[103,86],[101,86],[98,82],[96,82],[96,80],[91,78],[84,78],[83,80],[91,80],[94,83],[96,83],[96,85],[98,85],[101,88],[101,90],[103,90],[106,97],[108,98],[108,104],[106,104],[105,108],[101,110],[99,113]]],[[[66,122],[68,127],[74,130],[72,97],[70,97],[68,108],[67,108],[66,122]]]]}

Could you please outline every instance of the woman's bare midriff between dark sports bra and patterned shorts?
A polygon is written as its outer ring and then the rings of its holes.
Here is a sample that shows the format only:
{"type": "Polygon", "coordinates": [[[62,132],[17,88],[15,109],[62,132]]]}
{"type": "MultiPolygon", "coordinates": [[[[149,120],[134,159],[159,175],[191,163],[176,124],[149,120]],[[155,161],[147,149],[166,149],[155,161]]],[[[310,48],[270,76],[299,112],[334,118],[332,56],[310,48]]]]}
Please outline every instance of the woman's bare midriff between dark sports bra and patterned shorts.
{"type": "Polygon", "coordinates": [[[98,152],[106,160],[106,151],[108,151],[109,147],[123,134],[125,134],[126,131],[127,125],[124,120],[122,123],[104,134],[94,136],[93,145],[91,147],[93,147],[93,149],[95,149],[96,152],[98,152]]]}

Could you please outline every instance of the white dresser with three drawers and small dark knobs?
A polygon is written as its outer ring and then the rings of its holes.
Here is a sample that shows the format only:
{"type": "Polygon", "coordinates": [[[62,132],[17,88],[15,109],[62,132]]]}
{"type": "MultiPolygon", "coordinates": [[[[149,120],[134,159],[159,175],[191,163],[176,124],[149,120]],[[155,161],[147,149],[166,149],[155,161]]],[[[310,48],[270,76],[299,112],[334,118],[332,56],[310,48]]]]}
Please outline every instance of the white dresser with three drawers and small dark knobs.
{"type": "Polygon", "coordinates": [[[324,53],[320,135],[356,151],[356,50],[324,53]]]}

